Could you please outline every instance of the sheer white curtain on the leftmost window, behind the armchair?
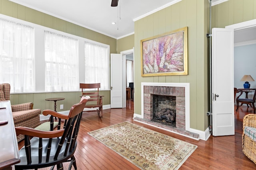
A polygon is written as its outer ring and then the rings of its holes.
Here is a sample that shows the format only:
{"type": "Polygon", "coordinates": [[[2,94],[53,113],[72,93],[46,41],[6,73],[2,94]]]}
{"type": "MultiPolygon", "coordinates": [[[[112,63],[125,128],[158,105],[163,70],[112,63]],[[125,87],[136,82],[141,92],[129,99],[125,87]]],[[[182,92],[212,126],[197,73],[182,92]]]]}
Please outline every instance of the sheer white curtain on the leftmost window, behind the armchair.
{"type": "Polygon", "coordinates": [[[11,92],[35,91],[34,28],[0,19],[0,82],[11,92]]]}

